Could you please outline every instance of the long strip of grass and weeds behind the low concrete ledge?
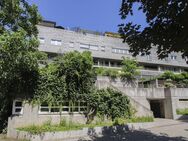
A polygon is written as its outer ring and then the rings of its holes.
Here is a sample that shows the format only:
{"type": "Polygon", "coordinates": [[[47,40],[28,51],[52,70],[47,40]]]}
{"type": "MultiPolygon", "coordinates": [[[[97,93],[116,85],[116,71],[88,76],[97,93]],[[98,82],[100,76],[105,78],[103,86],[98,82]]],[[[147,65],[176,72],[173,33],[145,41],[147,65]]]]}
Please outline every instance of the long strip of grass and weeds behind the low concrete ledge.
{"type": "Polygon", "coordinates": [[[113,125],[125,125],[126,123],[131,122],[152,122],[153,117],[135,117],[132,119],[123,119],[118,118],[114,121],[96,121],[91,124],[79,124],[74,123],[72,121],[67,122],[66,120],[62,120],[60,124],[52,125],[50,121],[44,123],[43,125],[31,125],[27,127],[17,128],[20,131],[27,131],[31,134],[41,134],[44,132],[58,132],[58,131],[70,131],[70,130],[81,130],[84,127],[94,128],[94,127],[102,127],[102,126],[113,126],[113,125]]]}

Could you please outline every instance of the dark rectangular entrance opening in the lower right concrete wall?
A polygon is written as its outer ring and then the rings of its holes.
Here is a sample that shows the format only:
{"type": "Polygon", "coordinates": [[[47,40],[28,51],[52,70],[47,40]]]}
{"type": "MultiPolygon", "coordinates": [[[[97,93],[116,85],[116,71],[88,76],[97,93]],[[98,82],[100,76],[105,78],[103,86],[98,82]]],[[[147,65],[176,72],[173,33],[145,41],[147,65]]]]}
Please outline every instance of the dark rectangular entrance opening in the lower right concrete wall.
{"type": "Polygon", "coordinates": [[[163,100],[150,100],[150,107],[155,118],[164,118],[163,100]]]}

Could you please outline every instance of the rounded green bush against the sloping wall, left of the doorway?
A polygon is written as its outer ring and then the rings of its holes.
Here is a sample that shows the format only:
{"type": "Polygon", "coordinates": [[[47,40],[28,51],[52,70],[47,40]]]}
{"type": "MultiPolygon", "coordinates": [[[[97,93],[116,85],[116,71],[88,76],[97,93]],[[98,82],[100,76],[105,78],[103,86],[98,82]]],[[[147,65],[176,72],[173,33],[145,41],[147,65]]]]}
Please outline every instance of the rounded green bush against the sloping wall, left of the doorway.
{"type": "Polygon", "coordinates": [[[99,115],[112,120],[117,117],[131,117],[131,105],[127,96],[110,88],[98,90],[97,94],[99,95],[97,107],[99,115]]]}

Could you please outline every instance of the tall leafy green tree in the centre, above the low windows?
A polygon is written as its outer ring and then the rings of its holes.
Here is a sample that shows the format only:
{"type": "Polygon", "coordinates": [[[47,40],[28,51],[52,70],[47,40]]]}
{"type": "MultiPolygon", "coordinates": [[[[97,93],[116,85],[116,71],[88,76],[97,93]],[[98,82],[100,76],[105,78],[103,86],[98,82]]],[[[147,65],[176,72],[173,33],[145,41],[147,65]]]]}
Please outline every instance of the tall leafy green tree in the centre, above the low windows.
{"type": "Polygon", "coordinates": [[[69,52],[57,58],[58,75],[65,76],[68,100],[77,101],[94,86],[93,58],[90,52],[69,52]]]}

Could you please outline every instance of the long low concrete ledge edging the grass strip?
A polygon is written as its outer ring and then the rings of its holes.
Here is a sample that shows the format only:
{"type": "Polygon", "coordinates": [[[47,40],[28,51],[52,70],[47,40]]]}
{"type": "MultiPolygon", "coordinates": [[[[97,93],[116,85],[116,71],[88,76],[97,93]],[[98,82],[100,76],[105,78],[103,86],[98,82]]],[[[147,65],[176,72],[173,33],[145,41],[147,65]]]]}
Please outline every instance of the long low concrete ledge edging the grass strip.
{"type": "Polygon", "coordinates": [[[128,123],[127,125],[117,125],[111,127],[95,127],[83,128],[82,130],[62,131],[62,132],[45,132],[41,134],[31,134],[26,131],[19,131],[12,129],[7,135],[9,138],[26,139],[30,141],[52,141],[52,140],[66,140],[71,138],[80,138],[86,136],[100,136],[104,134],[125,132],[129,130],[147,129],[158,126],[156,122],[147,123],[128,123]]]}

